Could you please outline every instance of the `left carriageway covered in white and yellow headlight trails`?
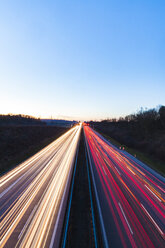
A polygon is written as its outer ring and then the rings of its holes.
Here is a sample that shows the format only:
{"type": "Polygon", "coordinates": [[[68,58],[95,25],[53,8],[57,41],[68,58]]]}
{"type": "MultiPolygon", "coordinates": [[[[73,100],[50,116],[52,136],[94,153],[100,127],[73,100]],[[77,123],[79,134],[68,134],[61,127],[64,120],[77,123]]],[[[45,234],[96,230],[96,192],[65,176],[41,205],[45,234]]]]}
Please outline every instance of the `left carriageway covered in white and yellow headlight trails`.
{"type": "Polygon", "coordinates": [[[81,125],[0,179],[0,247],[59,247],[81,125]]]}

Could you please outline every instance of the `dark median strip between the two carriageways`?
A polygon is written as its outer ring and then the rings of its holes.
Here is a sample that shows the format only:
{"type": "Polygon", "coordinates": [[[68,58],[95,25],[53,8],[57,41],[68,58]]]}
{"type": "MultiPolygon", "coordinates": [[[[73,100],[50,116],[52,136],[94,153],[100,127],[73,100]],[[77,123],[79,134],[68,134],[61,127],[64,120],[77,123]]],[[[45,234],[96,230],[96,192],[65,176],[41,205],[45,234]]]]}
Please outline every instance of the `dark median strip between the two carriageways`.
{"type": "Polygon", "coordinates": [[[80,136],[77,168],[65,247],[95,247],[83,132],[81,132],[80,136]]]}

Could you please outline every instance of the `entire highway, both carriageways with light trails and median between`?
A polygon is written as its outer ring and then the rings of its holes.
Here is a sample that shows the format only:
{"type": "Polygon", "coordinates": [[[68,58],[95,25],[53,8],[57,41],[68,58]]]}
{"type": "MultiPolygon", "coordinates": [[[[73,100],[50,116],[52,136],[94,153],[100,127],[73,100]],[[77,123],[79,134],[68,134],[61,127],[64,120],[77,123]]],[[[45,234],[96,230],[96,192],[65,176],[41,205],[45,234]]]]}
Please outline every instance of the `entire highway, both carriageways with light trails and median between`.
{"type": "Polygon", "coordinates": [[[163,248],[164,196],[161,175],[78,125],[1,177],[0,247],[61,247],[66,230],[67,248],[163,248]]]}

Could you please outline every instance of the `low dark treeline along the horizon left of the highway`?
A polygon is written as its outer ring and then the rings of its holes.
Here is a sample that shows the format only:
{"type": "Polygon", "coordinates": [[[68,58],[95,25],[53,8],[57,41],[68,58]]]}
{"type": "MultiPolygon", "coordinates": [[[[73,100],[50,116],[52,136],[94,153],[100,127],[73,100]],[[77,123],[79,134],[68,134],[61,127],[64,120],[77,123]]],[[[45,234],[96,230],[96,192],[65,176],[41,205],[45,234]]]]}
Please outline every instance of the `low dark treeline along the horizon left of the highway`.
{"type": "Polygon", "coordinates": [[[46,125],[39,118],[35,118],[29,115],[0,115],[0,125],[10,126],[10,125],[46,125]]]}

